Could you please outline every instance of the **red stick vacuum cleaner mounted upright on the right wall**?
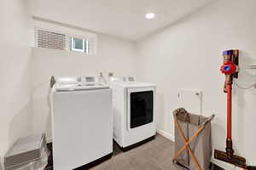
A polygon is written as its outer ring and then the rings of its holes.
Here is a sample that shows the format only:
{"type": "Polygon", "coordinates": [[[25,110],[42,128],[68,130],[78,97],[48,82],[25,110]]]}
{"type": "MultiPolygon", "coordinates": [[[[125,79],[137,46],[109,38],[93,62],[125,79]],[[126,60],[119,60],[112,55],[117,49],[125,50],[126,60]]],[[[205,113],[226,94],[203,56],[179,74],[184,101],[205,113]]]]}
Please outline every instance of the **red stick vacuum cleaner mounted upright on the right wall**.
{"type": "Polygon", "coordinates": [[[226,161],[244,169],[256,169],[256,167],[248,167],[246,159],[241,156],[234,155],[232,144],[232,84],[233,78],[238,78],[238,56],[239,50],[224,51],[224,63],[220,67],[220,71],[225,75],[224,93],[227,93],[227,139],[226,151],[214,150],[214,157],[220,161],[226,161]]]}

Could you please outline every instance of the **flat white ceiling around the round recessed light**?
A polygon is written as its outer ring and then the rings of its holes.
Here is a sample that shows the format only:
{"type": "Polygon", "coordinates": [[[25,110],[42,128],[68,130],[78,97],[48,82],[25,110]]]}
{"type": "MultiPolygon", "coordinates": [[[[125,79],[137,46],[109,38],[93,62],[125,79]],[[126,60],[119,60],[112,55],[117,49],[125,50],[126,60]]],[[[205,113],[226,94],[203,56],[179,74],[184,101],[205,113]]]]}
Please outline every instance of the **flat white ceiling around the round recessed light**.
{"type": "Polygon", "coordinates": [[[212,0],[29,0],[32,15],[115,37],[138,40],[212,0]],[[153,12],[156,17],[146,20],[153,12]]]}

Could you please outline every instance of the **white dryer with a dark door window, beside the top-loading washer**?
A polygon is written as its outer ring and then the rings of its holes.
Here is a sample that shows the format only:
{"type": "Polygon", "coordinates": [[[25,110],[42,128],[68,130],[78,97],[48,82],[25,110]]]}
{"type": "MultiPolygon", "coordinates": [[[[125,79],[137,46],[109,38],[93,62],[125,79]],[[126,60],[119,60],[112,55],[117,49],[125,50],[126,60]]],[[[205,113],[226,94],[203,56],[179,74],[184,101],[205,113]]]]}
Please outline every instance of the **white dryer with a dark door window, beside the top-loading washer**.
{"type": "Polygon", "coordinates": [[[154,139],[155,86],[147,82],[111,82],[113,139],[123,150],[154,139]]]}

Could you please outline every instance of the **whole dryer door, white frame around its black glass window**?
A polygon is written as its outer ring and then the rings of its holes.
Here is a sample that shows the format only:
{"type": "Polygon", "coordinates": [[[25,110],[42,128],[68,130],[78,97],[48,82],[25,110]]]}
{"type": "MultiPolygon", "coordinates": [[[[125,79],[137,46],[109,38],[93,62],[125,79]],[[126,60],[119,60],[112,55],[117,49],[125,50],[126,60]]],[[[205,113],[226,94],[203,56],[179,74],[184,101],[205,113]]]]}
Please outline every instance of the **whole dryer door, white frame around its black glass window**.
{"type": "Polygon", "coordinates": [[[128,129],[142,127],[154,119],[154,88],[128,90],[128,129]]]}

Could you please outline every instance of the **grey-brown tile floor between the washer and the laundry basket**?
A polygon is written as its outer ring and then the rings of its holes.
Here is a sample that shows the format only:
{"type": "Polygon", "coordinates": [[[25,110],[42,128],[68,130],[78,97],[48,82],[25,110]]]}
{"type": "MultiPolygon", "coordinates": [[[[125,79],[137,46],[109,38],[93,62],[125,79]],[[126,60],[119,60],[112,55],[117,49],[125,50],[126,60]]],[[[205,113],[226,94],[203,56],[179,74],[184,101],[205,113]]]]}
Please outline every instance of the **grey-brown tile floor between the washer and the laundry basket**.
{"type": "Polygon", "coordinates": [[[175,170],[174,143],[157,134],[155,139],[123,152],[113,144],[113,156],[90,170],[175,170]]]}

